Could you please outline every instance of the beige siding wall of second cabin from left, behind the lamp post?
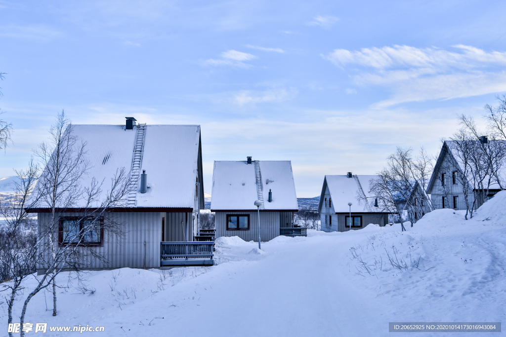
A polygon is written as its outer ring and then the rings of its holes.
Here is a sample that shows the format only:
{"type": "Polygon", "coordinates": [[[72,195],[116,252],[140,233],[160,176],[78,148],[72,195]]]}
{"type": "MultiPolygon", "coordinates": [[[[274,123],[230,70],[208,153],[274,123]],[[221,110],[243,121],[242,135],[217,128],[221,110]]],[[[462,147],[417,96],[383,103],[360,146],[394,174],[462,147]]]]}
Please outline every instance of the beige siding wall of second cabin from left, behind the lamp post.
{"type": "MultiPolygon", "coordinates": [[[[260,212],[260,239],[265,242],[279,236],[280,212],[260,212]]],[[[286,212],[288,213],[288,212],[286,212]]],[[[258,242],[257,212],[216,212],[216,237],[239,236],[244,241],[258,242]],[[227,214],[249,214],[248,230],[227,230],[227,214]]]]}

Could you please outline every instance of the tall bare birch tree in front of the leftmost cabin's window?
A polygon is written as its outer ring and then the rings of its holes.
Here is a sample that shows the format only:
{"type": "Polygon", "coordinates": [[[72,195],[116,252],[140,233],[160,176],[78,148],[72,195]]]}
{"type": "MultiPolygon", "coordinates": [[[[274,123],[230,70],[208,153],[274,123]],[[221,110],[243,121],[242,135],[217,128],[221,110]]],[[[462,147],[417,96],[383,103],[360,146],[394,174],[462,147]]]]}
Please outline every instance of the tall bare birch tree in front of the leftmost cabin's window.
{"type": "Polygon", "coordinates": [[[37,198],[34,210],[49,213],[38,226],[37,263],[45,272],[23,304],[21,324],[31,298],[47,287],[53,290],[56,316],[56,276],[61,271],[79,270],[87,266],[87,260],[107,262],[93,243],[104,239],[104,232],[116,238],[122,236],[122,224],[108,213],[111,208],[124,207],[130,185],[124,168],[116,170],[108,189],[104,180],[92,178],[88,185],[83,183],[90,168],[86,143],[73,134],[73,126],[63,112],[50,134],[50,141],[35,151],[45,168],[33,192],[33,198],[37,198]],[[77,216],[64,216],[69,211],[78,212],[77,216]]]}

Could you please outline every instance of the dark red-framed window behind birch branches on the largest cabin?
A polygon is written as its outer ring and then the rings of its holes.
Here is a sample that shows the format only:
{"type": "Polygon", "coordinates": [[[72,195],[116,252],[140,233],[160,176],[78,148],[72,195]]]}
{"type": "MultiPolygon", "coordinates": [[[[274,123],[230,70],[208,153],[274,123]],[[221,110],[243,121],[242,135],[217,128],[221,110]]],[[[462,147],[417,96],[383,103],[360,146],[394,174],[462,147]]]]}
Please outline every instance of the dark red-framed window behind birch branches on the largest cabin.
{"type": "Polygon", "coordinates": [[[58,242],[60,245],[78,244],[102,246],[103,217],[60,217],[58,242]]]}

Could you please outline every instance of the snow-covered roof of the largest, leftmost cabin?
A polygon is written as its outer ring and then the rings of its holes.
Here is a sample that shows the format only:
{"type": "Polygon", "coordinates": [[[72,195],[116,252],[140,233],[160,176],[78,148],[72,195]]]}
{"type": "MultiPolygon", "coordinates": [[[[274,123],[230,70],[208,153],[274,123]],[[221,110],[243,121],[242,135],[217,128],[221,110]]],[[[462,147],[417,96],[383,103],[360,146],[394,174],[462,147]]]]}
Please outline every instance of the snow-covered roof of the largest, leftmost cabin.
{"type": "MultiPolygon", "coordinates": [[[[72,128],[79,143],[81,140],[86,143],[86,159],[91,166],[80,185],[89,186],[93,178],[104,181],[103,199],[116,169],[124,167],[130,174],[138,127],[125,130],[124,125],[72,125],[72,128]]],[[[129,208],[194,209],[197,177],[202,184],[202,172],[197,173],[198,161],[201,163],[199,143],[199,125],[146,125],[141,170],[146,170],[150,188],[141,194],[139,181],[137,204],[129,208]]],[[[203,196],[199,199],[203,208],[203,196]]]]}

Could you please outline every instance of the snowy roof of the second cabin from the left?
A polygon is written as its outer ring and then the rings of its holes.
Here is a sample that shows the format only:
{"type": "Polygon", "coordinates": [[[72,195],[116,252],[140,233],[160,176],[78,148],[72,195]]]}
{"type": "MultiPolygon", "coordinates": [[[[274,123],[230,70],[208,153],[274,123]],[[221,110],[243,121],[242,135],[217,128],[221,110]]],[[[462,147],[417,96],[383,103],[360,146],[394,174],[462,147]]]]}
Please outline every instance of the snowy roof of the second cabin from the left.
{"type": "MultiPolygon", "coordinates": [[[[298,210],[290,161],[258,161],[265,210],[298,210]],[[269,190],[272,202],[268,202],[269,190]]],[[[255,161],[215,161],[211,210],[256,210],[255,161]]]]}

